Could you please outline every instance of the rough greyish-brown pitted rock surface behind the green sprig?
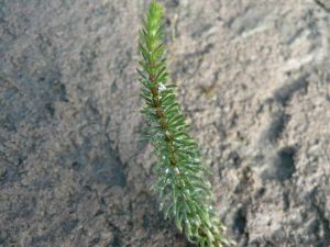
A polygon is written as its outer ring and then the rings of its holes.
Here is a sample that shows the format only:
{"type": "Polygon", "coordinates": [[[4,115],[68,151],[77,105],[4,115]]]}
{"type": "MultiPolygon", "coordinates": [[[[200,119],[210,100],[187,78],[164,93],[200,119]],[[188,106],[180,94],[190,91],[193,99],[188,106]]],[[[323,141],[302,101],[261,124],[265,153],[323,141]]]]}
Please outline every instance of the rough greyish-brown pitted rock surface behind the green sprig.
{"type": "MultiPolygon", "coordinates": [[[[138,142],[147,2],[0,0],[0,246],[193,246],[138,142]]],[[[330,2],[161,2],[228,235],[330,246],[330,2]]]]}

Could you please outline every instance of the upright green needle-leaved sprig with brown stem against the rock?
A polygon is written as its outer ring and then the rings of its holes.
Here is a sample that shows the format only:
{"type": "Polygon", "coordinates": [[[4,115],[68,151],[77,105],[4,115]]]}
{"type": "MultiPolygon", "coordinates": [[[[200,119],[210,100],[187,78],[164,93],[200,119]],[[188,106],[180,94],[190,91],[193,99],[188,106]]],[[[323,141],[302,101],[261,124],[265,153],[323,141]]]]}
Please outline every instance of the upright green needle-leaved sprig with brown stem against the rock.
{"type": "Polygon", "coordinates": [[[146,20],[142,20],[143,29],[139,32],[142,43],[139,49],[143,60],[138,68],[141,88],[140,97],[146,106],[141,111],[147,119],[148,127],[144,131],[151,134],[140,139],[152,141],[157,162],[153,167],[155,181],[152,192],[160,193],[160,210],[163,207],[165,218],[174,216],[177,227],[185,231],[189,242],[199,246],[223,246],[235,244],[223,236],[226,229],[218,213],[209,205],[215,200],[210,190],[210,182],[198,172],[209,172],[201,166],[198,144],[186,132],[185,115],[180,114],[178,103],[175,102],[173,88],[175,85],[164,86],[168,72],[166,59],[161,59],[164,44],[158,44],[163,37],[161,18],[162,5],[153,1],[148,5],[146,20]]]}

